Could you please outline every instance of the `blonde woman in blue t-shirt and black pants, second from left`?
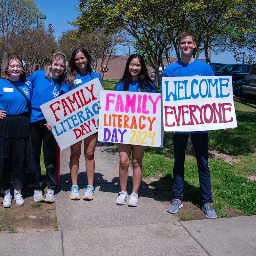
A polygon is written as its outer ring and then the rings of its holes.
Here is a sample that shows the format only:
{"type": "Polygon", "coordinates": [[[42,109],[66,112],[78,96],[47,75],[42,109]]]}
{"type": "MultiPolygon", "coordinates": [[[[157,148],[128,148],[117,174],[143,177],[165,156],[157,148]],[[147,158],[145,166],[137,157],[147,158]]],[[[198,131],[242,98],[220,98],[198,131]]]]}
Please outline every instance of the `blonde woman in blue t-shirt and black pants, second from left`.
{"type": "Polygon", "coordinates": [[[45,120],[40,105],[60,95],[60,86],[65,76],[66,61],[67,59],[63,53],[56,52],[51,57],[47,71],[37,70],[28,78],[33,88],[31,99],[31,130],[36,170],[40,181],[40,186],[34,187],[35,202],[55,202],[54,190],[58,187],[60,176],[60,148],[51,132],[51,125],[48,125],[45,120]],[[41,190],[43,181],[40,167],[42,143],[48,186],[45,199],[41,190]]]}

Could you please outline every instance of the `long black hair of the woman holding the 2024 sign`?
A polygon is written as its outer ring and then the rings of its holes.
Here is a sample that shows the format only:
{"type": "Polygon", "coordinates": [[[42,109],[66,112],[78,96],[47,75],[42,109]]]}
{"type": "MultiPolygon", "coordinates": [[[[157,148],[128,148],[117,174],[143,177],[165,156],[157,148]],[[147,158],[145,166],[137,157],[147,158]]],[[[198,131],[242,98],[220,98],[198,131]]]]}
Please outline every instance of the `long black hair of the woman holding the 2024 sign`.
{"type": "Polygon", "coordinates": [[[138,78],[139,79],[138,89],[140,90],[140,92],[151,92],[152,90],[156,90],[155,85],[152,83],[152,80],[148,76],[148,70],[144,60],[139,54],[132,54],[126,62],[124,75],[119,81],[121,83],[124,83],[123,91],[127,91],[131,83],[132,76],[129,73],[129,66],[132,59],[135,59],[135,58],[138,58],[140,60],[140,65],[141,65],[141,71],[138,78]]]}

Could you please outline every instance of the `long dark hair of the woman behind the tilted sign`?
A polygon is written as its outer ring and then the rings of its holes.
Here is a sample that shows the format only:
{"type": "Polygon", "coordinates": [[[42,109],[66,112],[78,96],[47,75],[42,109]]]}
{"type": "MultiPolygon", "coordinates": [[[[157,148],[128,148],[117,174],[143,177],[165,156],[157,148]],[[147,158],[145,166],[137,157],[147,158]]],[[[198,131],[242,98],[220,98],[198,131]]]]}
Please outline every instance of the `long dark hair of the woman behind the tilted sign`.
{"type": "Polygon", "coordinates": [[[91,58],[90,54],[82,47],[77,48],[74,52],[72,52],[71,58],[68,63],[68,67],[69,67],[70,71],[68,72],[68,77],[66,78],[66,80],[68,80],[69,86],[71,86],[71,85],[76,86],[76,84],[74,82],[76,75],[77,74],[81,75],[81,73],[80,73],[79,69],[76,67],[76,63],[75,63],[75,56],[76,56],[76,53],[78,53],[78,52],[84,53],[84,56],[88,61],[86,68],[88,70],[88,73],[92,74],[92,66],[91,66],[92,58],[91,58]]]}

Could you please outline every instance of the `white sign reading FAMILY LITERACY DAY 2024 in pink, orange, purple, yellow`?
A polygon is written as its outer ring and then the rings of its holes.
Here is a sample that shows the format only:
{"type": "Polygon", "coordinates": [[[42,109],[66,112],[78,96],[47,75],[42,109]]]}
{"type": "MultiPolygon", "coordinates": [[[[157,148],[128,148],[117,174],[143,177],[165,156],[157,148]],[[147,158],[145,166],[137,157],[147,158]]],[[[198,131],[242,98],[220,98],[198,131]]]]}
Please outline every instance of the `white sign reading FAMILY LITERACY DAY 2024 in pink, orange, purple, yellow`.
{"type": "Polygon", "coordinates": [[[161,94],[100,92],[98,140],[162,147],[161,94]]]}

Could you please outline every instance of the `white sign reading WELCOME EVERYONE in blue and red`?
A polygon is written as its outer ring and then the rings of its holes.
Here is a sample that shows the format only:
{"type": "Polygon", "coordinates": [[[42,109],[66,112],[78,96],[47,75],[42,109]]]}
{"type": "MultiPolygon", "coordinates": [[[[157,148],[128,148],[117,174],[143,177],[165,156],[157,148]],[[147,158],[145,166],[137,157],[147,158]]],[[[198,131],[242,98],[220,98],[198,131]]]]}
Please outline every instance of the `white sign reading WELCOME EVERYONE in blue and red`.
{"type": "Polygon", "coordinates": [[[232,76],[163,77],[164,131],[237,127],[232,76]]]}

